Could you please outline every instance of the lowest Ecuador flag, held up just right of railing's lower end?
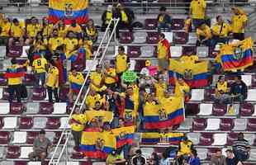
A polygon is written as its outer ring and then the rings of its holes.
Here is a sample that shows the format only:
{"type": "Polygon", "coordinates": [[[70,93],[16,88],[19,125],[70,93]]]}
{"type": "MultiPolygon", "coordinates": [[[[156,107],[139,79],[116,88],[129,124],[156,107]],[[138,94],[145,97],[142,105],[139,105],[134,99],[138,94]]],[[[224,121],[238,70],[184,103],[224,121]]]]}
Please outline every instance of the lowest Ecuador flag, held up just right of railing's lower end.
{"type": "Polygon", "coordinates": [[[107,158],[107,154],[116,148],[116,138],[109,132],[83,131],[80,151],[88,158],[107,158]]]}

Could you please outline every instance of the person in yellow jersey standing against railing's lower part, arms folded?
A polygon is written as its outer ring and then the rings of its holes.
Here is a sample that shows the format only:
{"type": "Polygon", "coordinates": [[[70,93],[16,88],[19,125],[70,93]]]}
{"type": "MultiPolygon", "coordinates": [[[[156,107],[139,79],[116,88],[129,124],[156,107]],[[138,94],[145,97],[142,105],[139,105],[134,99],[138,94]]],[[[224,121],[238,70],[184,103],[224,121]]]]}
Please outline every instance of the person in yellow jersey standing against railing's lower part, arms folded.
{"type": "Polygon", "coordinates": [[[69,125],[71,126],[71,133],[74,140],[74,149],[79,150],[79,145],[81,144],[81,137],[83,133],[84,126],[86,125],[87,119],[86,115],[80,113],[79,107],[75,107],[74,113],[69,120],[69,125]]]}

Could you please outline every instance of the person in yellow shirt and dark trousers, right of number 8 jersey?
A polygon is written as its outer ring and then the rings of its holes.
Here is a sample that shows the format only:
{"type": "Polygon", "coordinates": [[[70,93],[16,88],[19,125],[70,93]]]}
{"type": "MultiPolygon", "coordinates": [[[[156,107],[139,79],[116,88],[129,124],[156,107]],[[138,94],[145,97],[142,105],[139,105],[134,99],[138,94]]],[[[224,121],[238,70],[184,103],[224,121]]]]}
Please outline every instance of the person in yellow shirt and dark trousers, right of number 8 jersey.
{"type": "Polygon", "coordinates": [[[55,67],[55,65],[52,63],[49,63],[49,65],[50,67],[48,69],[45,87],[47,88],[49,101],[53,102],[52,94],[54,92],[55,101],[59,102],[59,96],[58,96],[59,69],[55,67]]]}

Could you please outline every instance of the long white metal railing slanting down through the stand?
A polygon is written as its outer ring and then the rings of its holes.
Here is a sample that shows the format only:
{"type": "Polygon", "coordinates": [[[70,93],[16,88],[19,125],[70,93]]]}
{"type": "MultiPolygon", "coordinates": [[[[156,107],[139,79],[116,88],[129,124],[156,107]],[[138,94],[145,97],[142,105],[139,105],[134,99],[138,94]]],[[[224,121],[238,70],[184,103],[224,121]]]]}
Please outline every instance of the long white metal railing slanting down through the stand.
{"type": "MultiPolygon", "coordinates": [[[[119,19],[111,19],[110,23],[108,24],[107,26],[107,29],[102,37],[102,40],[101,40],[101,43],[100,45],[98,46],[97,48],[97,52],[92,60],[92,64],[95,64],[95,62],[97,61],[97,55],[100,54],[100,50],[104,50],[103,53],[102,53],[102,57],[100,59],[100,62],[98,64],[101,64],[102,63],[102,60],[104,59],[105,55],[106,55],[106,52],[107,52],[107,48],[111,42],[111,38],[113,36],[114,33],[116,33],[116,26],[118,24],[118,21],[119,19]],[[111,29],[111,24],[114,25],[113,29],[111,29]],[[110,37],[107,36],[107,34],[111,32],[111,35],[110,37]],[[107,40],[107,45],[103,45],[103,43],[107,40]]],[[[115,40],[116,40],[116,37],[115,37],[115,40]]],[[[52,154],[52,157],[50,158],[50,163],[49,165],[56,165],[56,164],[59,164],[59,161],[60,161],[60,158],[62,158],[63,156],[63,153],[64,151],[66,150],[66,161],[68,161],[69,159],[69,155],[68,155],[68,142],[69,142],[69,138],[70,138],[70,130],[68,129],[69,127],[69,120],[71,119],[71,115],[73,114],[73,111],[74,109],[78,106],[80,108],[80,111],[82,110],[83,106],[84,106],[84,103],[86,101],[86,97],[88,96],[88,92],[89,92],[89,87],[86,87],[86,83],[88,81],[88,78],[89,78],[89,75],[90,73],[92,72],[92,68],[93,66],[91,65],[89,68],[88,68],[88,73],[86,74],[86,77],[84,79],[84,82],[83,82],[83,86],[81,87],[80,89],[80,92],[78,93],[78,97],[76,98],[76,101],[74,102],[73,104],[73,108],[72,108],[72,111],[70,112],[70,115],[69,115],[69,118],[68,120],[66,121],[66,124],[65,124],[65,127],[62,131],[62,134],[60,135],[59,137],[59,141],[58,141],[58,144],[55,146],[55,151],[54,153],[52,154]],[[83,96],[83,91],[85,91],[85,95],[83,96]],[[82,100],[83,101],[81,103],[79,103],[78,101],[82,100]],[[60,145],[61,144],[61,141],[65,141],[64,142],[64,145],[60,145]],[[58,148],[61,148],[61,151],[58,155],[58,148]]]]}

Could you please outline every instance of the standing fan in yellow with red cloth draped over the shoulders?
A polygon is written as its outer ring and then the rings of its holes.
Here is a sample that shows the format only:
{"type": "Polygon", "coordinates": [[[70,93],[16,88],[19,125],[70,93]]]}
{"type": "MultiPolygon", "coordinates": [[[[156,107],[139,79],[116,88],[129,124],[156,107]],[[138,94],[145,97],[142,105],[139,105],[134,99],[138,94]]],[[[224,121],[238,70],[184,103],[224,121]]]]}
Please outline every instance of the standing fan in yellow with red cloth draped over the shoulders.
{"type": "Polygon", "coordinates": [[[159,60],[159,71],[163,72],[168,69],[168,59],[171,58],[170,55],[170,44],[167,39],[165,39],[164,33],[159,35],[159,45],[158,45],[158,60],[159,60]]]}

